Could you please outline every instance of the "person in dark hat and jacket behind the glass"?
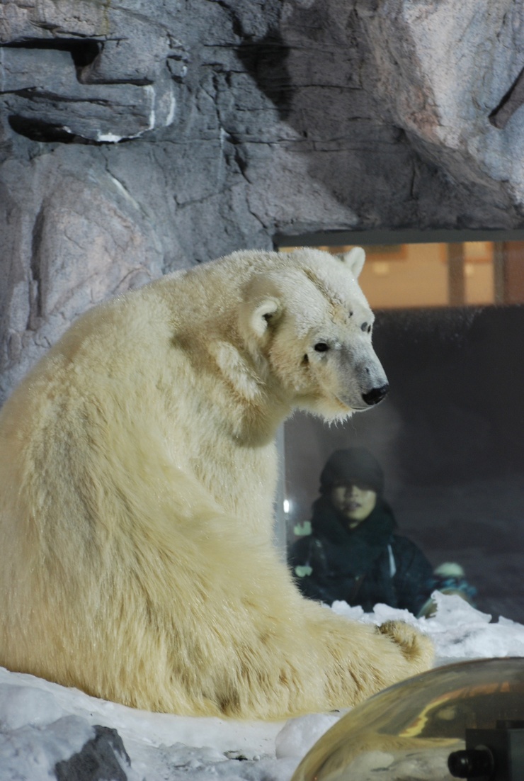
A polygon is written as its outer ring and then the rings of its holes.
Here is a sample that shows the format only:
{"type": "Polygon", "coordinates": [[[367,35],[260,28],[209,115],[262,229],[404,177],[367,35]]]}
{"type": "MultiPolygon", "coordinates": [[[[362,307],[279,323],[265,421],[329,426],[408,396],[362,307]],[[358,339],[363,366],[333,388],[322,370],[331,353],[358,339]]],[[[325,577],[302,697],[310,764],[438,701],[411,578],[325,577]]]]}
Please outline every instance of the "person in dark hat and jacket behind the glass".
{"type": "Polygon", "coordinates": [[[396,533],[383,498],[384,473],[365,448],[335,451],[320,474],[303,537],[289,551],[289,565],[305,597],[331,604],[378,602],[417,615],[432,590],[433,570],[423,552],[396,533]]]}

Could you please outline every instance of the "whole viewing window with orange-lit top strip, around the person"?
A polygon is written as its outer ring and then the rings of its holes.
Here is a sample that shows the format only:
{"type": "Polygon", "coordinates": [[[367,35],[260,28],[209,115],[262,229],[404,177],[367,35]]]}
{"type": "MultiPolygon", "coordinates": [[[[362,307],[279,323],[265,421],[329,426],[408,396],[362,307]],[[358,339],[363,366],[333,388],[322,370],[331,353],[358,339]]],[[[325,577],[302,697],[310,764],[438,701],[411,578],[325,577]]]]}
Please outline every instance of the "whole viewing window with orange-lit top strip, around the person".
{"type": "Polygon", "coordinates": [[[391,391],[344,424],[302,414],[285,424],[288,544],[311,531],[330,455],[363,447],[384,471],[396,535],[432,569],[459,565],[477,608],[524,622],[524,242],[382,245],[366,255],[359,281],[391,391]]]}

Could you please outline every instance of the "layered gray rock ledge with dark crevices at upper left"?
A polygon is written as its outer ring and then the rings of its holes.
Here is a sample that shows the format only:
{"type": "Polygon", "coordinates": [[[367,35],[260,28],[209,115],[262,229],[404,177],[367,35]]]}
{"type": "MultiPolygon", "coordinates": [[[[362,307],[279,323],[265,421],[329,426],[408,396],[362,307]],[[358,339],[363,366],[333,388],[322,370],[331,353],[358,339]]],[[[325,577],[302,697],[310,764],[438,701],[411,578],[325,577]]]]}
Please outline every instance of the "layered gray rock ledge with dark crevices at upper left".
{"type": "Polygon", "coordinates": [[[173,122],[171,63],[184,52],[163,25],[96,2],[15,9],[0,27],[13,130],[43,141],[117,142],[173,122]]]}

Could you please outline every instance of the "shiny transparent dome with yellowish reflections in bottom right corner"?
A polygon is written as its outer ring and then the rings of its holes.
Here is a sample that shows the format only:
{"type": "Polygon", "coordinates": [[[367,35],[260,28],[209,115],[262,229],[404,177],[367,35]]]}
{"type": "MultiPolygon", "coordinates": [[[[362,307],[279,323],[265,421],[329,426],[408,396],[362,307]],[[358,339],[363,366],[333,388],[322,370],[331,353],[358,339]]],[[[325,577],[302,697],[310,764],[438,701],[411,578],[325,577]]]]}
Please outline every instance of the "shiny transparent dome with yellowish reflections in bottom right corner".
{"type": "Polygon", "coordinates": [[[292,781],[521,781],[522,765],[524,658],[478,659],[424,672],[352,708],[292,781]],[[479,758],[480,769],[468,765],[479,758]]]}

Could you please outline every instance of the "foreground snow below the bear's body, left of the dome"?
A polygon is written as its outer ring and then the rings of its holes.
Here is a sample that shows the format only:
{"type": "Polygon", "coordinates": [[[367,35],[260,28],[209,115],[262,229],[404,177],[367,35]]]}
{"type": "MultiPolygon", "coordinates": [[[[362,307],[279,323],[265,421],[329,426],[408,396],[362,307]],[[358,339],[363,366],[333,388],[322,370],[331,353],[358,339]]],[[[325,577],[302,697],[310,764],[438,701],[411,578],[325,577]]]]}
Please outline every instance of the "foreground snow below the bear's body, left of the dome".
{"type": "MultiPolygon", "coordinates": [[[[83,753],[92,759],[95,754],[101,766],[107,765],[107,746],[101,754],[100,747],[94,751],[93,743],[107,727],[115,730],[115,740],[122,741],[125,752],[113,751],[113,764],[118,762],[122,771],[119,781],[182,776],[196,781],[209,772],[219,778],[256,781],[264,776],[285,781],[300,757],[275,758],[275,738],[282,726],[284,722],[235,722],[139,711],[0,668],[0,781],[76,781],[70,770],[75,755],[83,753]],[[63,763],[67,760],[66,771],[63,763]],[[256,772],[250,771],[252,767],[256,772]]],[[[105,776],[93,776],[93,781],[98,778],[105,776]]]]}

